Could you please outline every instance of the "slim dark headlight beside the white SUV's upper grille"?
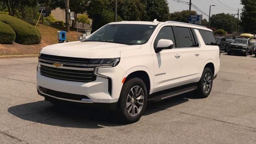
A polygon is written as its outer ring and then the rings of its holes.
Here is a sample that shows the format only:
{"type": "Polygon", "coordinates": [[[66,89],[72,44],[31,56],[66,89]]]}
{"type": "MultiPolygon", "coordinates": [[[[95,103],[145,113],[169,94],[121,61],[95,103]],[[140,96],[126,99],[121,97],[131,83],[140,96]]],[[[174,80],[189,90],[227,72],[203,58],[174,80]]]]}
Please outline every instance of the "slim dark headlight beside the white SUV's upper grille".
{"type": "Polygon", "coordinates": [[[100,64],[101,66],[117,66],[120,58],[96,58],[91,59],[88,64],[100,64]]]}

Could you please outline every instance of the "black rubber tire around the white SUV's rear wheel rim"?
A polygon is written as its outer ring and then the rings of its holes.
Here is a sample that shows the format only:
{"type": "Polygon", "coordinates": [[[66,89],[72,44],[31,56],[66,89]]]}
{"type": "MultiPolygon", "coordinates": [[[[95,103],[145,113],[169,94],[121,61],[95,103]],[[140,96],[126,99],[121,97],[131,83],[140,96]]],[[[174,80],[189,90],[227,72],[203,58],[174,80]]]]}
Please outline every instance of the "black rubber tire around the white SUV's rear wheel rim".
{"type": "Polygon", "coordinates": [[[201,77],[200,81],[197,84],[198,88],[195,91],[195,96],[197,98],[206,98],[206,97],[208,97],[211,90],[212,90],[212,84],[213,84],[212,70],[210,68],[204,68],[204,71],[202,73],[202,77],[201,77]],[[205,89],[204,89],[204,88],[206,88],[206,87],[204,87],[204,86],[206,86],[205,85],[205,80],[204,80],[206,74],[209,74],[208,76],[210,76],[210,83],[209,83],[210,88],[208,88],[208,92],[206,92],[205,89]]]}

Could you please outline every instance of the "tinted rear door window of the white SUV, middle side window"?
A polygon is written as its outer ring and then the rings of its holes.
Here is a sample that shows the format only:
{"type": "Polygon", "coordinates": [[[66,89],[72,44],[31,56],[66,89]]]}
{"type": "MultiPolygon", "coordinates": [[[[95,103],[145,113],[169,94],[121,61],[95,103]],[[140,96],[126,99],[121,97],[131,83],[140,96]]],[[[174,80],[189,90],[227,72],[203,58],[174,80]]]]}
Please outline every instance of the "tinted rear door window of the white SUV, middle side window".
{"type": "Polygon", "coordinates": [[[192,32],[190,28],[184,27],[173,27],[173,32],[176,40],[176,47],[193,47],[194,37],[192,36],[192,32]]]}

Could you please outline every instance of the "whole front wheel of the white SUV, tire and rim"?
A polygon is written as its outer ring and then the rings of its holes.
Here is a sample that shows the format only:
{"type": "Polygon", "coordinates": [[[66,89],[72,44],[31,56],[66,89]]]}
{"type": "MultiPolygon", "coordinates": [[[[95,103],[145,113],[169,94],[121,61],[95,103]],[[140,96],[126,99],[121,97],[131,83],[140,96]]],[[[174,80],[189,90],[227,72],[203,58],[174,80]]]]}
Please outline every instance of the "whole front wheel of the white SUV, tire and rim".
{"type": "Polygon", "coordinates": [[[140,78],[132,78],[125,82],[117,108],[122,122],[138,121],[146,108],[147,98],[146,85],[140,78]]]}

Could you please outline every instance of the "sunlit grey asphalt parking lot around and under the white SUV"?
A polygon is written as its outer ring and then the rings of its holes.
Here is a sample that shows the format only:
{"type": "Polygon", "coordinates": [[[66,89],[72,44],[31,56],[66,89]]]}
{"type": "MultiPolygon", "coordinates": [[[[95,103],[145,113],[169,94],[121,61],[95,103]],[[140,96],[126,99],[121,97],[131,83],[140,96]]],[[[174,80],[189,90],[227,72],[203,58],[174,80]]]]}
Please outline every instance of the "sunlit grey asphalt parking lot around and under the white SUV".
{"type": "Polygon", "coordinates": [[[1,144],[256,144],[256,58],[221,55],[208,98],[149,104],[134,124],[107,110],[56,107],[36,92],[37,58],[0,59],[1,144]]]}

